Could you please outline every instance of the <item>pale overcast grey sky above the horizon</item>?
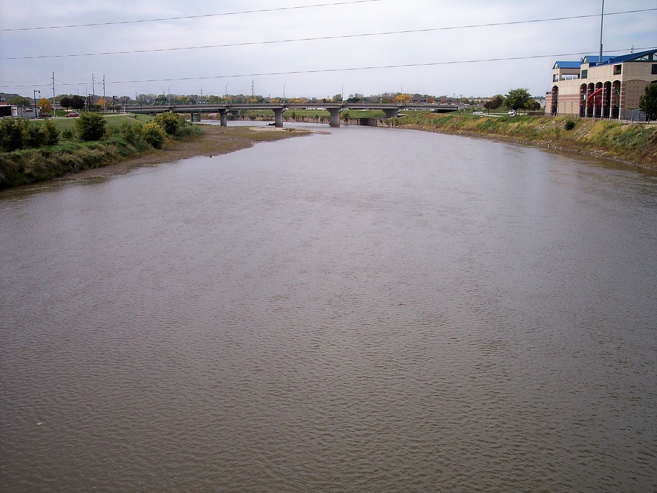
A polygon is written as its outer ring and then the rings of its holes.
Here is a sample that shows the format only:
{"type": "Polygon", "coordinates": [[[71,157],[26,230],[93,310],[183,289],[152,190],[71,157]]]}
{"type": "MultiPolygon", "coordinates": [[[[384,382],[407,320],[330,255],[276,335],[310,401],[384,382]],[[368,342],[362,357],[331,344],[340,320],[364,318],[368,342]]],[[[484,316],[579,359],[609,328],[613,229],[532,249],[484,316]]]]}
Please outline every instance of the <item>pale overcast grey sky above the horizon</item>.
{"type": "MultiPolygon", "coordinates": [[[[300,7],[346,0],[3,0],[0,29],[116,22],[300,7]]],[[[606,0],[605,13],[654,9],[655,0],[606,0]]],[[[286,11],[243,13],[50,30],[0,32],[0,91],[32,96],[32,89],[102,95],[171,93],[223,95],[251,92],[286,97],[331,97],[400,91],[487,96],[527,87],[544,95],[555,57],[438,64],[306,74],[256,75],[368,66],[597,54],[601,0],[377,0],[286,11]],[[159,53],[11,60],[9,57],[179,48],[334,35],[421,30],[597,14],[591,18],[457,30],[346,37],[159,53]],[[200,79],[201,77],[213,77],[200,79]],[[191,80],[175,80],[196,78],[191,80]],[[164,81],[163,79],[173,79],[164,81]],[[124,81],[158,80],[158,82],[124,81]],[[159,81],[162,80],[162,81],[159,81]],[[100,82],[99,82],[100,81],[100,82]],[[64,85],[64,83],[70,85],[64,85]],[[21,87],[23,86],[23,87],[21,87]]],[[[657,11],[605,17],[604,50],[618,54],[657,47],[657,11]]],[[[579,55],[556,57],[578,60],[579,55]]]]}

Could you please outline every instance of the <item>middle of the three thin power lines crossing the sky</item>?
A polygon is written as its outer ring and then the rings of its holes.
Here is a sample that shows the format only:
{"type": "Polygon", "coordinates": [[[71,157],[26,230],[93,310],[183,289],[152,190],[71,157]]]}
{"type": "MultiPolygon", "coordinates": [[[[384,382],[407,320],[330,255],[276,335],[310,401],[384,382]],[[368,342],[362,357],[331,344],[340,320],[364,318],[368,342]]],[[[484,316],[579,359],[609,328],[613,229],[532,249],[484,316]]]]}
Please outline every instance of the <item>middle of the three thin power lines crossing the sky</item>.
{"type": "MultiPolygon", "coordinates": [[[[650,12],[657,11],[657,9],[642,9],[637,11],[623,11],[623,12],[610,12],[607,15],[619,15],[619,14],[633,14],[636,12],[650,12]]],[[[276,43],[294,43],[298,41],[319,41],[326,39],[344,39],[350,37],[367,37],[367,36],[380,36],[380,35],[390,35],[390,34],[409,34],[409,33],[419,33],[419,32],[436,32],[436,31],[447,31],[447,30],[456,30],[456,29],[471,29],[471,28],[486,28],[491,26],[511,26],[514,24],[530,24],[536,22],[553,22],[556,20],[570,20],[570,19],[581,19],[581,18],[590,18],[590,17],[599,17],[600,14],[586,14],[586,15],[577,15],[577,16],[568,16],[568,17],[553,17],[546,19],[532,19],[532,20],[515,20],[511,22],[491,22],[488,24],[471,24],[468,26],[447,26],[442,28],[426,28],[426,29],[409,29],[403,31],[383,31],[383,32],[373,32],[373,33],[361,33],[361,34],[342,34],[334,36],[321,36],[321,37],[302,37],[294,39],[277,39],[275,41],[246,41],[243,43],[227,43],[223,45],[200,45],[200,46],[187,46],[187,47],[174,47],[174,48],[155,48],[155,49],[142,49],[142,50],[125,50],[125,51],[101,51],[97,53],[68,53],[66,55],[34,55],[30,57],[4,57],[0,60],[28,60],[28,59],[53,59],[53,58],[69,58],[69,57],[93,57],[97,55],[127,55],[129,53],[156,53],[162,51],[183,51],[183,50],[194,50],[194,49],[208,49],[208,48],[227,48],[227,47],[236,47],[236,46],[249,46],[249,45],[271,45],[276,43]]]]}

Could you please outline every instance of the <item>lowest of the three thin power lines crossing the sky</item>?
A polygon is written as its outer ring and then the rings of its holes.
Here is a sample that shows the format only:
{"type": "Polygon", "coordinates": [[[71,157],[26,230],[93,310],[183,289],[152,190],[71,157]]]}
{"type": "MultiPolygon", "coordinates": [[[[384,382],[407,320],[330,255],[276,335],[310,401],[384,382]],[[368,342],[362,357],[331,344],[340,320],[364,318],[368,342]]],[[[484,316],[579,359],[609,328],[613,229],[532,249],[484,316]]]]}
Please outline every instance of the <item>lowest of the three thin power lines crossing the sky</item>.
{"type": "MultiPolygon", "coordinates": [[[[636,48],[637,51],[652,50],[657,49],[657,46],[645,47],[645,48],[636,48]]],[[[238,78],[238,77],[260,77],[260,76],[281,76],[288,74],[319,74],[325,72],[351,72],[355,70],[376,70],[382,68],[408,68],[408,67],[424,67],[424,66],[438,66],[438,65],[456,65],[456,64],[465,64],[465,63],[481,63],[481,62],[504,62],[512,60],[531,60],[531,59],[546,59],[546,58],[556,58],[556,57],[574,57],[579,55],[589,55],[595,50],[591,51],[579,51],[577,53],[552,53],[550,55],[529,55],[525,57],[501,57],[494,59],[475,59],[475,60],[452,60],[449,62],[425,62],[425,63],[405,63],[399,65],[372,65],[372,66],[361,66],[361,67],[343,67],[343,68],[321,68],[317,70],[290,70],[287,72],[260,72],[254,74],[231,74],[223,76],[199,76],[199,77],[180,77],[180,78],[169,78],[169,79],[143,79],[143,80],[114,80],[108,81],[108,84],[129,84],[129,83],[147,83],[147,82],[175,82],[181,80],[210,80],[210,79],[226,79],[226,78],[238,78]]],[[[618,53],[625,52],[628,49],[622,50],[605,50],[604,53],[618,53]]],[[[79,82],[76,84],[70,85],[84,85],[88,82],[79,82]]],[[[11,85],[6,87],[32,87],[31,85],[11,85]]]]}

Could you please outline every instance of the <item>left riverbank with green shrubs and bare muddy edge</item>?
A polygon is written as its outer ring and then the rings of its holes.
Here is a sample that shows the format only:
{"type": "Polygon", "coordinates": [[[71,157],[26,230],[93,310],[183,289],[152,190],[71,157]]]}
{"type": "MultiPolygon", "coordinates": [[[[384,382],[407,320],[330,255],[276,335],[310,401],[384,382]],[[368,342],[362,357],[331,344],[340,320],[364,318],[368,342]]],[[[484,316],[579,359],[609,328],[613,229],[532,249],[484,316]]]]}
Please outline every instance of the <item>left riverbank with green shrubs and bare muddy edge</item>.
{"type": "Polygon", "coordinates": [[[185,136],[170,138],[163,149],[141,139],[125,139],[120,132],[97,142],[65,140],[39,149],[0,153],[0,189],[64,177],[111,176],[193,156],[214,156],[308,132],[293,129],[251,129],[194,125],[185,136]]]}

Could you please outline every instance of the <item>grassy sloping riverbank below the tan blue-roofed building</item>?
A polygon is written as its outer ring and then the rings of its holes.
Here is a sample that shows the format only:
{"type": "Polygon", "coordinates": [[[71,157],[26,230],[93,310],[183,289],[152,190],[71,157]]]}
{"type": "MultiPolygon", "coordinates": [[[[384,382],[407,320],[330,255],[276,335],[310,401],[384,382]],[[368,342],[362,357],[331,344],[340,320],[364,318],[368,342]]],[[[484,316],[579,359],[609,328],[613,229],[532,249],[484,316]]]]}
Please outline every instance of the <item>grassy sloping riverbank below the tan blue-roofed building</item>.
{"type": "Polygon", "coordinates": [[[396,120],[399,128],[512,140],[657,169],[655,124],[624,125],[585,118],[438,113],[409,114],[396,120]],[[566,129],[568,121],[574,122],[574,128],[566,129]]]}

